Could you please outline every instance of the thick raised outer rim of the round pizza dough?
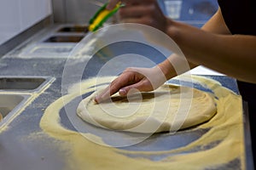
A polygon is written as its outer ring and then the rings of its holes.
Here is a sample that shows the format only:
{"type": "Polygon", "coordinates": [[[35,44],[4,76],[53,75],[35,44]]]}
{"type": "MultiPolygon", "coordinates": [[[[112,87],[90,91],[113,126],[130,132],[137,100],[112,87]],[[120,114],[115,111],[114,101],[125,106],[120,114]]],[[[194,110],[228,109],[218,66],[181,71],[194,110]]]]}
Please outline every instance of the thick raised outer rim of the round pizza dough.
{"type": "MultiPolygon", "coordinates": [[[[170,85],[173,86],[173,85],[170,85]]],[[[179,87],[179,86],[174,86],[179,87]]],[[[183,87],[189,88],[189,87],[183,87]]],[[[96,127],[103,127],[109,130],[115,131],[126,131],[132,133],[160,133],[160,132],[170,132],[172,131],[171,127],[174,127],[174,130],[184,129],[188,127],[195,127],[196,125],[200,125],[203,122],[207,122],[214,116],[217,112],[217,108],[215,105],[215,101],[213,99],[212,94],[207,92],[198,90],[196,88],[191,88],[193,93],[200,93],[205,95],[205,99],[207,100],[209,107],[202,111],[203,114],[195,114],[193,116],[187,116],[185,120],[176,119],[174,124],[172,122],[160,122],[156,118],[152,116],[142,116],[138,117],[135,120],[131,121],[120,121],[111,120],[109,118],[102,120],[101,118],[94,116],[93,114],[89,114],[86,105],[94,99],[97,92],[90,94],[87,98],[83,99],[77,108],[77,114],[84,122],[89,122],[90,124],[96,127]],[[85,107],[84,107],[85,106],[85,107]],[[143,123],[145,122],[145,123],[143,123]],[[177,129],[178,128],[178,129],[177,129]]]]}

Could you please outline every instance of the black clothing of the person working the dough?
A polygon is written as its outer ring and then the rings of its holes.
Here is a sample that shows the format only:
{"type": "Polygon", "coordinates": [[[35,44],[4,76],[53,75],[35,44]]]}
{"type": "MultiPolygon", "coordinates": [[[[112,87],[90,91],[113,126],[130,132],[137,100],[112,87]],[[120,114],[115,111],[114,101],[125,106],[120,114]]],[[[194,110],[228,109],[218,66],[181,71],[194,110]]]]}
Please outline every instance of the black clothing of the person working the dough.
{"type": "MultiPolygon", "coordinates": [[[[256,36],[256,0],[218,0],[224,21],[232,34],[256,36]]],[[[255,49],[256,57],[256,49],[255,49]]],[[[256,74],[256,73],[255,73],[256,74]]],[[[256,77],[256,75],[255,75],[256,77]]],[[[237,81],[242,99],[247,102],[256,164],[256,84],[237,81]]]]}

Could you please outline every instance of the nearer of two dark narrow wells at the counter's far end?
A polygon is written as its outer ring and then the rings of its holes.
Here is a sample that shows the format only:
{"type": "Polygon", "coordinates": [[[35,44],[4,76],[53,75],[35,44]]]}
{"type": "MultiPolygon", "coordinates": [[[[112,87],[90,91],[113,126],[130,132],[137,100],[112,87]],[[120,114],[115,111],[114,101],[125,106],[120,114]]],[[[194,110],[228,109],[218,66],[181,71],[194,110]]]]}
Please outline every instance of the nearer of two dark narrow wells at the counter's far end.
{"type": "Polygon", "coordinates": [[[80,42],[84,36],[52,36],[44,40],[44,42],[80,42]]]}

